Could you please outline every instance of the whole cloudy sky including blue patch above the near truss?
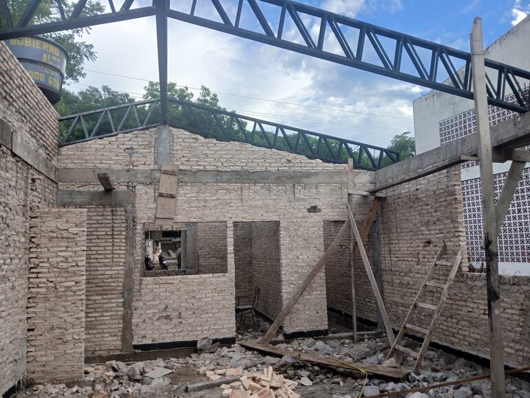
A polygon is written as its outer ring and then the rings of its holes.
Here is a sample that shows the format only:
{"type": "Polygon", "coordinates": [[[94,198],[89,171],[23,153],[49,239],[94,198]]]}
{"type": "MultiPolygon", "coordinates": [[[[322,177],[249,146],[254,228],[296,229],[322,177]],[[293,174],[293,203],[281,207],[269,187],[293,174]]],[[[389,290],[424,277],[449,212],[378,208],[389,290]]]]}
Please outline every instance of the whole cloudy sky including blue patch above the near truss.
{"type": "MultiPolygon", "coordinates": [[[[530,12],[530,0],[298,1],[465,51],[474,17],[482,17],[488,45],[530,12]]],[[[114,0],[116,8],[121,2],[114,0]]],[[[235,12],[236,0],[221,2],[235,12]]],[[[136,6],[150,3],[135,1],[136,6]]],[[[171,4],[189,9],[191,1],[171,4]]],[[[198,0],[198,10],[208,14],[209,4],[198,0]]],[[[264,13],[273,15],[265,8],[264,13]]],[[[168,28],[169,81],[195,94],[205,85],[218,92],[226,109],[268,121],[384,147],[395,134],[414,131],[412,100],[428,92],[181,21],[170,19],[168,28]]],[[[94,45],[98,59],[85,64],[86,78],[70,90],[109,85],[140,97],[147,81],[158,81],[154,17],[94,26],[83,40],[94,45]]]]}

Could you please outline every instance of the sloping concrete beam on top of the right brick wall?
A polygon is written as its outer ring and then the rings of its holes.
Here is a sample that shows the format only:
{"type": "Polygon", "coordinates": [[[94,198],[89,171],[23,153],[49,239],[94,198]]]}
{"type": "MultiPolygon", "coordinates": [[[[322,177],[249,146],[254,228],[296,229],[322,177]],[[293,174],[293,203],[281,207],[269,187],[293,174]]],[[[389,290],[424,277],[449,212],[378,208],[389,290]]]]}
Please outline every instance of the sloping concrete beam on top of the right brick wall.
{"type": "MultiPolygon", "coordinates": [[[[491,127],[491,144],[494,149],[514,149],[530,143],[530,112],[491,127]]],[[[462,156],[476,156],[478,136],[476,133],[394,163],[384,169],[374,171],[375,186],[372,192],[394,187],[403,182],[416,180],[458,165],[462,156]]]]}

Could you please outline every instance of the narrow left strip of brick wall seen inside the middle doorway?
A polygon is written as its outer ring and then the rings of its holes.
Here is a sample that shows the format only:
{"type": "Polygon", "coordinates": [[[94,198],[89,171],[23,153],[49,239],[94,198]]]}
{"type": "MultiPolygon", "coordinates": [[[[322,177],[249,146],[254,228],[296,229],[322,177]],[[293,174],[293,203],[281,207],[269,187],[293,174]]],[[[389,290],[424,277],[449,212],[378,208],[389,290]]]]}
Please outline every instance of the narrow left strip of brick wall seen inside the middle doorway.
{"type": "Polygon", "coordinates": [[[234,222],[235,297],[254,294],[252,270],[252,223],[234,222]]]}

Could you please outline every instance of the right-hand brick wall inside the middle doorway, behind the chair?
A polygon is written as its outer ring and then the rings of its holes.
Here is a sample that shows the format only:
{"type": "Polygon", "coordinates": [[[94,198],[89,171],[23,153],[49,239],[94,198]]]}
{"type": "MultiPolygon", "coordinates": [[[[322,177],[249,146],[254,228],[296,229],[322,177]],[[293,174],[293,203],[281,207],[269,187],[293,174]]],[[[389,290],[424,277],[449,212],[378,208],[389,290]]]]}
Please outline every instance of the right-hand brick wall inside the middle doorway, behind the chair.
{"type": "MultiPolygon", "coordinates": [[[[253,282],[260,289],[257,308],[269,318],[275,319],[283,308],[279,222],[253,222],[251,235],[253,282]]],[[[253,296],[254,293],[250,295],[253,296]]]]}

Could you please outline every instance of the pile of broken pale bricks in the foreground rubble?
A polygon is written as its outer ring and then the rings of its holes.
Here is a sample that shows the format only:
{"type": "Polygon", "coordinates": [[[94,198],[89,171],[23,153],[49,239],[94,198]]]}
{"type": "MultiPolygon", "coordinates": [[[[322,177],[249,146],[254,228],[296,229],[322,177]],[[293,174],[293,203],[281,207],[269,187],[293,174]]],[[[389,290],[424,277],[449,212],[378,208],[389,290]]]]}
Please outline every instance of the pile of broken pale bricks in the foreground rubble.
{"type": "Polygon", "coordinates": [[[263,373],[248,373],[231,384],[223,384],[221,388],[222,396],[229,398],[300,398],[293,391],[297,386],[296,381],[284,379],[274,372],[272,366],[266,366],[263,373]]]}

